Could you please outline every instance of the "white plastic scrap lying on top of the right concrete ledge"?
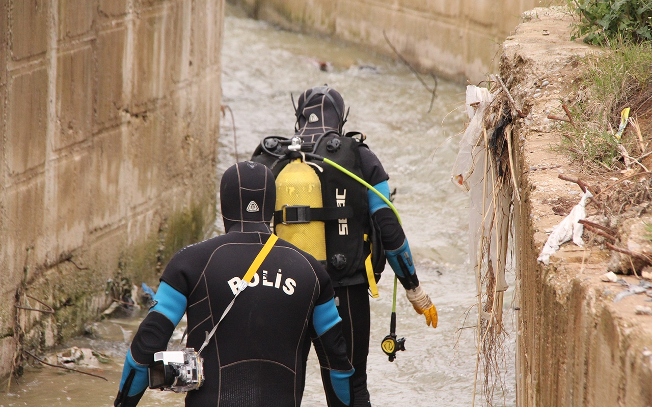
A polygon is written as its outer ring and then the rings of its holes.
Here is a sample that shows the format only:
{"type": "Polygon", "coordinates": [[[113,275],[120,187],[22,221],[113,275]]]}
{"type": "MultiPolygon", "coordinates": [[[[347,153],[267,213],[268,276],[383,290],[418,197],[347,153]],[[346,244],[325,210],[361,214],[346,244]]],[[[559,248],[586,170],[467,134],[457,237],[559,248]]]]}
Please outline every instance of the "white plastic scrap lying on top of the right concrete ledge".
{"type": "Polygon", "coordinates": [[[550,264],[550,255],[556,253],[556,251],[559,250],[559,246],[569,240],[572,240],[572,242],[577,246],[584,246],[584,241],[582,240],[584,225],[578,221],[586,217],[586,200],[592,196],[591,192],[587,189],[584,195],[582,195],[580,203],[576,204],[574,208],[572,208],[571,213],[568,214],[561,223],[554,227],[554,229],[552,229],[552,233],[548,236],[546,244],[543,246],[539,257],[537,257],[538,261],[546,264],[546,266],[550,264]]]}

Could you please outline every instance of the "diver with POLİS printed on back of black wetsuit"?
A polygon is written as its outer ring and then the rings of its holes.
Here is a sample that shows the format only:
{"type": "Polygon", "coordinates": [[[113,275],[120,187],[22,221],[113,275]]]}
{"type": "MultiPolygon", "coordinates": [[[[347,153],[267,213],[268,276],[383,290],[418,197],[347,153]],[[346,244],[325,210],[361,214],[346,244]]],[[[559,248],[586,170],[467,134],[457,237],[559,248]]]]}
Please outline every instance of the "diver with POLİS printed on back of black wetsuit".
{"type": "MultiPolygon", "coordinates": [[[[233,165],[222,176],[220,193],[226,234],[181,249],[166,266],[126,355],[115,406],[138,404],[147,366],[155,352],[166,349],[184,313],[186,346],[199,350],[271,234],[276,190],[267,167],[233,165]]],[[[350,406],[353,367],[340,325],[321,264],[279,239],[201,352],[205,382],[188,391],[186,406],[299,406],[311,339],[327,378],[329,405],[350,406]]]]}

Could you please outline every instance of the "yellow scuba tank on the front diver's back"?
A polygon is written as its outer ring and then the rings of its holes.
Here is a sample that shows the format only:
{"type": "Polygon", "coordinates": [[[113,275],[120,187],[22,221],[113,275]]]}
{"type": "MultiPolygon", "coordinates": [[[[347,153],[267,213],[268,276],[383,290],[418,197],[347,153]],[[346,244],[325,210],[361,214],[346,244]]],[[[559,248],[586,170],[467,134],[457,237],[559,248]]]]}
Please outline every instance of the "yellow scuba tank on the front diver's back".
{"type": "MultiPolygon", "coordinates": [[[[297,159],[288,163],[276,176],[276,210],[304,205],[321,208],[321,182],[310,165],[297,159]]],[[[309,223],[276,222],[276,235],[319,261],[326,260],[326,234],[323,221],[309,223]]]]}

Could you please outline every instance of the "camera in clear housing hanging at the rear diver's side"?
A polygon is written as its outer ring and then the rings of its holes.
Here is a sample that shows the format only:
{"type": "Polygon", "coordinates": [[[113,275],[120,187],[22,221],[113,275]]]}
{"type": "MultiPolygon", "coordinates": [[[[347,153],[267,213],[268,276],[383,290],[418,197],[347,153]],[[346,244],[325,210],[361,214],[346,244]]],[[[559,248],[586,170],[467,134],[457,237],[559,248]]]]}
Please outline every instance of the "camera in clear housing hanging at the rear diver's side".
{"type": "Polygon", "coordinates": [[[182,393],[203,384],[203,359],[193,348],[156,352],[147,373],[150,389],[182,393]]]}

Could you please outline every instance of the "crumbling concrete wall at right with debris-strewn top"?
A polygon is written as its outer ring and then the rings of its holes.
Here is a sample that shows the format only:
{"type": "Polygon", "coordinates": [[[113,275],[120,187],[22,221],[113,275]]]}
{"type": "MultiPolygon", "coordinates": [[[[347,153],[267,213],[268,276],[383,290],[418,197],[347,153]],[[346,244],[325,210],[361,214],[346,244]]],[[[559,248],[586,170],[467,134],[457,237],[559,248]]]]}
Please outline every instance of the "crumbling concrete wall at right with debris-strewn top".
{"type": "Polygon", "coordinates": [[[503,44],[500,69],[528,115],[514,132],[521,199],[515,210],[518,405],[652,406],[652,316],[634,312],[649,306],[647,297],[614,302],[623,286],[600,281],[609,253],[595,245],[567,243],[549,266],[537,262],[548,232],[564,217],[554,213],[554,204],[579,201],[578,186],[558,178],[577,177],[579,169],[552,150],[561,135],[547,116],[564,116],[561,104],[582,76],[580,59],[599,49],[569,41],[563,13],[537,9],[527,15],[531,20],[503,44]],[[531,171],[553,165],[561,167],[531,171]]]}

